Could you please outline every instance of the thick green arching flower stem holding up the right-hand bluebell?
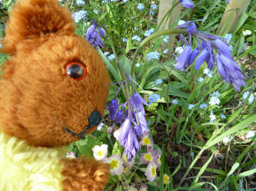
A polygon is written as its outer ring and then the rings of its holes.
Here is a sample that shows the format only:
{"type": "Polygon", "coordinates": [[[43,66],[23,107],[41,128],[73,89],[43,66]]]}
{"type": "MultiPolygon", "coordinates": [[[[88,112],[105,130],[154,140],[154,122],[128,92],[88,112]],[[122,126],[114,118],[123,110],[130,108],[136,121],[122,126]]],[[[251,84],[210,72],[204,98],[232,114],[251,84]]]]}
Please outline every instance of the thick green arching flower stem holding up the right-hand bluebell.
{"type": "Polygon", "coordinates": [[[135,51],[135,55],[131,62],[131,77],[134,76],[134,70],[135,70],[135,61],[138,56],[138,53],[141,51],[141,48],[148,43],[148,41],[151,41],[153,38],[159,37],[161,35],[169,35],[169,34],[186,34],[186,29],[167,29],[164,31],[158,31],[154,34],[150,35],[149,37],[145,38],[143,41],[141,41],[141,44],[138,46],[138,48],[135,51]]]}

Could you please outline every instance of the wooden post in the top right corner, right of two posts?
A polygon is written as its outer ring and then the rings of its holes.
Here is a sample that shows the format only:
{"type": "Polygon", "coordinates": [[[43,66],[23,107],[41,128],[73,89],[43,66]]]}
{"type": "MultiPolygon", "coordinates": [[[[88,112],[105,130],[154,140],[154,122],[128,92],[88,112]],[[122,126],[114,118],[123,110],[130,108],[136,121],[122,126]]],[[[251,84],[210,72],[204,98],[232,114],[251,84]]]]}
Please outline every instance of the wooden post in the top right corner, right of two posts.
{"type": "Polygon", "coordinates": [[[223,35],[227,30],[228,32],[234,31],[234,28],[238,25],[241,15],[243,14],[245,8],[248,7],[250,2],[251,0],[230,0],[230,4],[227,5],[224,15],[221,18],[221,23],[218,26],[217,34],[221,32],[220,35],[223,35]],[[226,24],[226,22],[228,22],[228,24],[226,24]],[[223,27],[224,30],[222,30],[223,27]]]}

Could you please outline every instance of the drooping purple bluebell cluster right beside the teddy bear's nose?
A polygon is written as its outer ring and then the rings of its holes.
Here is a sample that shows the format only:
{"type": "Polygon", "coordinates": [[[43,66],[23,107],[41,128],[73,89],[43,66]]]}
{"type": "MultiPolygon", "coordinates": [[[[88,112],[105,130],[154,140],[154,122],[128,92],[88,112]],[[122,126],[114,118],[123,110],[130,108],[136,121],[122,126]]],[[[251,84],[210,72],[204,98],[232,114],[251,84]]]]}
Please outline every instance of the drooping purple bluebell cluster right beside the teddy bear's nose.
{"type": "MultiPolygon", "coordinates": [[[[131,87],[135,91],[135,87],[132,83],[136,84],[136,82],[128,74],[126,74],[126,76],[128,77],[128,81],[125,83],[131,84],[131,87]]],[[[118,91],[120,91],[120,89],[119,87],[118,91]]],[[[106,109],[109,110],[111,120],[115,120],[116,123],[121,123],[119,142],[121,146],[125,147],[125,153],[130,161],[132,157],[136,156],[140,148],[138,139],[142,137],[143,133],[149,131],[143,107],[143,105],[148,105],[148,103],[140,94],[135,92],[132,94],[132,97],[128,97],[125,104],[118,104],[118,100],[116,99],[117,94],[106,109]],[[121,106],[122,108],[118,108],[121,106]]]]}

